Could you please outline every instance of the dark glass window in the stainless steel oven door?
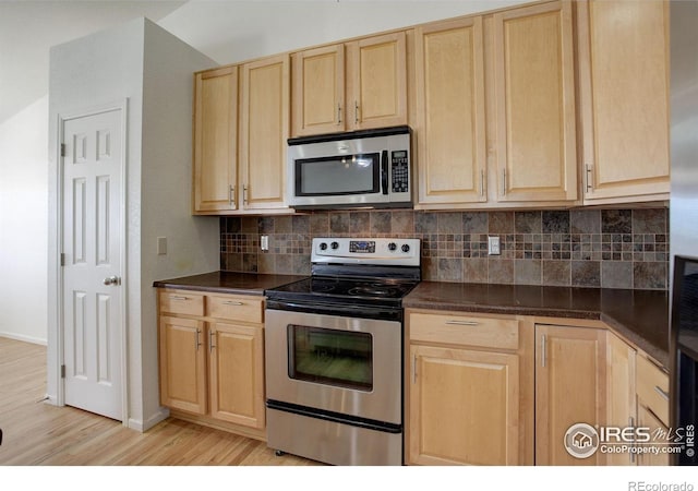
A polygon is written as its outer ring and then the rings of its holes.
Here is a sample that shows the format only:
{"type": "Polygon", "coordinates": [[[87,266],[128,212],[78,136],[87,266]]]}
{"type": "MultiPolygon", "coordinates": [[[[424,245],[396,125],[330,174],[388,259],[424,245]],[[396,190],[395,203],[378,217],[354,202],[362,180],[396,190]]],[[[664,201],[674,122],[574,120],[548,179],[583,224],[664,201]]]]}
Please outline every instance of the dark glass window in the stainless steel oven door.
{"type": "Polygon", "coordinates": [[[288,374],[305,382],[373,390],[373,336],[323,327],[288,326],[288,374]]]}

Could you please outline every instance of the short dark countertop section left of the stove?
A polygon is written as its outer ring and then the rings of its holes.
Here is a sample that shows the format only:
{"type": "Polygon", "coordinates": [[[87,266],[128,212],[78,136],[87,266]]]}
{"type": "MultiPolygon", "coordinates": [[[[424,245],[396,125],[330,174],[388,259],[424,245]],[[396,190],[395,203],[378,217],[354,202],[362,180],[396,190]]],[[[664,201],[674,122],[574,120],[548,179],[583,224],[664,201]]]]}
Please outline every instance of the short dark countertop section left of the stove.
{"type": "Polygon", "coordinates": [[[153,283],[156,288],[177,288],[180,290],[215,291],[219,294],[264,295],[264,290],[289,283],[298,282],[306,276],[298,275],[261,275],[255,273],[230,273],[215,271],[194,276],[173,279],[161,279],[153,283]]]}

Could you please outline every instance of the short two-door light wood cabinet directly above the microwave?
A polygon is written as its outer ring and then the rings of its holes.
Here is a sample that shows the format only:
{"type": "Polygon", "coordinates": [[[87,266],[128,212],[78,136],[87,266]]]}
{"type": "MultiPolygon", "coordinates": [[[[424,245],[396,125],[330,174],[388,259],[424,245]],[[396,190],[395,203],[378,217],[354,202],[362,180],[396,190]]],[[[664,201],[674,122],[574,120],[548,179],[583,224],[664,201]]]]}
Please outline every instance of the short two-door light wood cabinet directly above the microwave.
{"type": "Polygon", "coordinates": [[[294,136],[407,124],[404,32],[293,53],[294,136]]]}

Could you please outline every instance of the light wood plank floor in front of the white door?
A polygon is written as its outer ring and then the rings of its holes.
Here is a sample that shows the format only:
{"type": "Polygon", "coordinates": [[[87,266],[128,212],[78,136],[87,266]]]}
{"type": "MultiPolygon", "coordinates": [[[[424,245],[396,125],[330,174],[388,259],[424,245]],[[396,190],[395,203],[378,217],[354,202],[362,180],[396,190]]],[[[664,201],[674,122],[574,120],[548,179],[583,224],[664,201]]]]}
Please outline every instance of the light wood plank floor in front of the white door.
{"type": "Polygon", "coordinates": [[[145,433],[72,407],[46,393],[46,347],[0,337],[0,465],[306,466],[264,442],[176,419],[145,433]]]}

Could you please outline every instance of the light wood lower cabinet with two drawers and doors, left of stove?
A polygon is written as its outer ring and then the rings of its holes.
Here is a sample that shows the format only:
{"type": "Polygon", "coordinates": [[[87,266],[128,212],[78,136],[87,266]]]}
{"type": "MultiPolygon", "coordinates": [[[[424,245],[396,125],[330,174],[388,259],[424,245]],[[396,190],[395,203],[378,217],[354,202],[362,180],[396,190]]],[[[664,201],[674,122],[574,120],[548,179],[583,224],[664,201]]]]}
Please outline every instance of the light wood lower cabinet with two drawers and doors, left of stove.
{"type": "Polygon", "coordinates": [[[263,430],[264,300],[161,289],[158,302],[160,404],[263,430]]]}

